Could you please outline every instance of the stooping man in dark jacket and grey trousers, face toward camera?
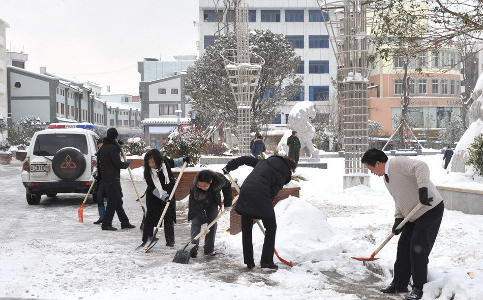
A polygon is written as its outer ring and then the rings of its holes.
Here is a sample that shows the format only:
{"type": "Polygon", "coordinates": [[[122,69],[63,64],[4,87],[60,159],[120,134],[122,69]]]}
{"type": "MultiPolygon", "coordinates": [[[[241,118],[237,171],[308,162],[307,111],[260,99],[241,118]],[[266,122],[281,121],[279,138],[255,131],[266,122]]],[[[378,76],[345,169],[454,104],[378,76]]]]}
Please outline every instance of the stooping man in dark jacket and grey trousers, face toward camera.
{"type": "MultiPolygon", "coordinates": [[[[221,194],[223,192],[223,206],[226,210],[231,210],[232,193],[231,183],[220,173],[210,170],[199,172],[193,179],[190,189],[188,202],[188,221],[191,221],[191,240],[193,240],[201,230],[208,232],[204,240],[204,254],[215,256],[215,235],[217,223],[207,230],[208,223],[211,223],[218,216],[218,208],[221,208],[221,194]]],[[[198,249],[199,239],[194,241],[198,249]]],[[[191,257],[197,257],[198,251],[194,251],[191,257]]]]}

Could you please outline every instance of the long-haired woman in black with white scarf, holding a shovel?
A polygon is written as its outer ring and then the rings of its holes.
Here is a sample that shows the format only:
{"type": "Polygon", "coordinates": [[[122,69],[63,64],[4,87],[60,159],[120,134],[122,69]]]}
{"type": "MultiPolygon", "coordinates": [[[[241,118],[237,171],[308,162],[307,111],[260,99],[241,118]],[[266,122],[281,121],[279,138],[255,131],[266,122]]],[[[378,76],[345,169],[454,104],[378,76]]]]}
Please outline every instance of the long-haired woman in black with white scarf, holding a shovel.
{"type": "MultiPolygon", "coordinates": [[[[146,180],[146,219],[142,233],[142,242],[153,236],[154,227],[166,207],[169,194],[172,192],[175,179],[171,168],[190,162],[189,157],[167,158],[158,149],[149,150],[144,155],[144,179],[146,180]]],[[[174,247],[174,223],[176,223],[176,199],[173,195],[166,215],[164,216],[164,237],[166,246],[174,247]]]]}

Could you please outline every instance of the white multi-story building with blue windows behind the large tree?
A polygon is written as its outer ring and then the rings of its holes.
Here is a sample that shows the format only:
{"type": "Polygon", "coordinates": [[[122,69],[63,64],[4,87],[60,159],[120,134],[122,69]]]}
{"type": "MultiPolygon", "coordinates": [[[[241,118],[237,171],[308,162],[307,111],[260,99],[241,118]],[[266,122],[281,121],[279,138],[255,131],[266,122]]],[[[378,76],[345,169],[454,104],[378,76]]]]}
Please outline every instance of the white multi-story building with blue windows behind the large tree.
{"type": "MultiPolygon", "coordinates": [[[[274,123],[286,124],[290,109],[298,101],[312,101],[319,111],[323,111],[322,107],[333,93],[330,78],[335,78],[337,73],[337,62],[323,23],[327,15],[321,13],[313,0],[245,0],[245,3],[249,6],[249,29],[270,29],[283,34],[293,44],[295,53],[301,56],[296,73],[304,78],[304,86],[300,87],[303,92],[297,98],[288,99],[274,123]]],[[[234,15],[232,10],[225,11],[222,5],[222,1],[199,1],[200,56],[219,34],[233,30],[231,23],[219,32],[220,21],[233,21],[234,15]]]]}

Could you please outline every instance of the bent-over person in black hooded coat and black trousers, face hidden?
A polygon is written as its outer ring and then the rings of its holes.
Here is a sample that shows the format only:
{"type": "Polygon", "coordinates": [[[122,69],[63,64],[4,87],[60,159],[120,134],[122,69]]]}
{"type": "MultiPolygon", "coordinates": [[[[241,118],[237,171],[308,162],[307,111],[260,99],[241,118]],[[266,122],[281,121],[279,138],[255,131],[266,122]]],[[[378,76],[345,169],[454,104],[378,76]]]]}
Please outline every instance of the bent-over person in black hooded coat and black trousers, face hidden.
{"type": "Polygon", "coordinates": [[[261,219],[265,227],[265,240],[260,266],[261,268],[277,269],[278,265],[274,263],[277,222],[271,203],[283,186],[290,182],[297,165],[290,157],[275,155],[267,159],[257,159],[252,156],[241,156],[228,161],[223,172],[236,170],[243,164],[254,168],[241,185],[240,195],[235,206],[236,213],[241,215],[244,263],[247,264],[248,269],[255,266],[252,244],[253,219],[261,219]]]}

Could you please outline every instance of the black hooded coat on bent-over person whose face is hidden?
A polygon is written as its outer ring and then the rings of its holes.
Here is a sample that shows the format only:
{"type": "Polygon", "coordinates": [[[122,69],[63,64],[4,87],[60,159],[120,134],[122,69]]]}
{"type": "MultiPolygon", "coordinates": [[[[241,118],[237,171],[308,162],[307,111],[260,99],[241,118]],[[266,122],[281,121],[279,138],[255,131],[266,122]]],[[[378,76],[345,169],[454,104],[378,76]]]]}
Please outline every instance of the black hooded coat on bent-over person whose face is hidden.
{"type": "Polygon", "coordinates": [[[281,156],[270,156],[267,159],[241,156],[230,160],[225,168],[232,171],[242,164],[254,169],[241,185],[235,211],[238,214],[246,213],[275,219],[271,203],[283,186],[290,182],[292,172],[289,166],[281,156]]]}

